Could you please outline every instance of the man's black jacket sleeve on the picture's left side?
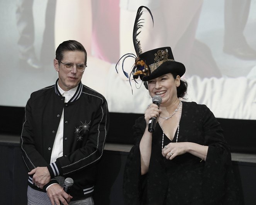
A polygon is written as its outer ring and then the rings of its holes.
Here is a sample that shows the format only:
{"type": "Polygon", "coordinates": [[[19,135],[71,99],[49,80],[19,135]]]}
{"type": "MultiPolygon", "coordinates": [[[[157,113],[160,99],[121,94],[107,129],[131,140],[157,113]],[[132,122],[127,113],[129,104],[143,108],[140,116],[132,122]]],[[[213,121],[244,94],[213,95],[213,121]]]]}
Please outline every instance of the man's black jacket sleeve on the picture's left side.
{"type": "Polygon", "coordinates": [[[29,171],[37,166],[48,165],[46,160],[44,160],[42,155],[36,149],[31,102],[32,98],[30,97],[25,106],[25,116],[20,138],[22,158],[29,171]]]}

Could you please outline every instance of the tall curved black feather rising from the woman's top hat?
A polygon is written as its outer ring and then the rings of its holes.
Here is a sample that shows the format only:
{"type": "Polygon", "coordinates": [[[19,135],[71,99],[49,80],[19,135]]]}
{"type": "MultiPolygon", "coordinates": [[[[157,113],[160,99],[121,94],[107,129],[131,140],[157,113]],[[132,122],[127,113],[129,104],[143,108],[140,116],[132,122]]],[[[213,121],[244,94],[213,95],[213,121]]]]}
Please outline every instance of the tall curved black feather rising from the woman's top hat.
{"type": "Polygon", "coordinates": [[[133,27],[133,33],[132,33],[132,40],[133,40],[133,45],[134,45],[134,49],[136,52],[136,55],[139,56],[140,54],[142,54],[142,50],[141,50],[141,42],[139,41],[139,39],[137,39],[138,35],[141,33],[141,31],[138,32],[139,29],[141,29],[141,27],[143,27],[143,23],[141,19],[141,15],[142,15],[142,9],[146,8],[147,11],[149,12],[149,14],[151,15],[152,21],[153,21],[153,25],[154,25],[154,19],[153,19],[153,15],[151,13],[151,11],[149,10],[149,8],[145,7],[145,6],[140,6],[137,10],[137,15],[135,18],[135,22],[134,22],[134,27],[133,27]]]}

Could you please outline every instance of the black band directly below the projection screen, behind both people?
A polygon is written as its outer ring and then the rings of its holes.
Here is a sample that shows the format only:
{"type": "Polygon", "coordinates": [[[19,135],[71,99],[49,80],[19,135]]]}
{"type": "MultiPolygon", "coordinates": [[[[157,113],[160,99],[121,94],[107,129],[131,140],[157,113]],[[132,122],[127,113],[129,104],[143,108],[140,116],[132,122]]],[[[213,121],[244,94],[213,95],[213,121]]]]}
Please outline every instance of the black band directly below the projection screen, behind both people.
{"type": "MultiPolygon", "coordinates": [[[[25,109],[0,106],[0,133],[20,135],[25,109]]],[[[143,114],[110,113],[107,143],[133,144],[132,126],[143,114]]],[[[256,153],[256,120],[217,118],[231,152],[256,153]]]]}

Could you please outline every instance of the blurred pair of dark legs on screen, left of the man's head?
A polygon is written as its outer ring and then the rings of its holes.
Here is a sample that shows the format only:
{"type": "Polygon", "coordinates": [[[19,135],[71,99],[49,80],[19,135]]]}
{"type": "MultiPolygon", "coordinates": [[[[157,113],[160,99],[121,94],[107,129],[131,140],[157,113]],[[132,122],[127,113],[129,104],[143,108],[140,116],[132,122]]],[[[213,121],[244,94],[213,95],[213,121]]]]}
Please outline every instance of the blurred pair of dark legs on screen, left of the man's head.
{"type": "Polygon", "coordinates": [[[45,28],[40,58],[34,47],[35,27],[33,16],[34,0],[16,0],[16,24],[19,30],[19,58],[22,67],[39,69],[47,64],[54,54],[54,16],[56,0],[47,1],[45,14],[45,28]]]}

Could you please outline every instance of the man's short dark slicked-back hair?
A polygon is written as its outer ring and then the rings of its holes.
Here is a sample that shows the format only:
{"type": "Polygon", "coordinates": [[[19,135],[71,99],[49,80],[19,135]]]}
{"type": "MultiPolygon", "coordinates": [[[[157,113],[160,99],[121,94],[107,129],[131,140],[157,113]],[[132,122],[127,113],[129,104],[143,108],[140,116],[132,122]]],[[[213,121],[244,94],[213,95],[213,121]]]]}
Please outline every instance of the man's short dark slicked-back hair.
{"type": "Polygon", "coordinates": [[[85,50],[85,47],[76,40],[67,40],[59,44],[58,48],[56,49],[56,59],[57,60],[62,60],[63,59],[63,54],[65,51],[82,51],[85,53],[85,65],[87,61],[87,53],[85,50]]]}

